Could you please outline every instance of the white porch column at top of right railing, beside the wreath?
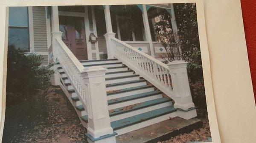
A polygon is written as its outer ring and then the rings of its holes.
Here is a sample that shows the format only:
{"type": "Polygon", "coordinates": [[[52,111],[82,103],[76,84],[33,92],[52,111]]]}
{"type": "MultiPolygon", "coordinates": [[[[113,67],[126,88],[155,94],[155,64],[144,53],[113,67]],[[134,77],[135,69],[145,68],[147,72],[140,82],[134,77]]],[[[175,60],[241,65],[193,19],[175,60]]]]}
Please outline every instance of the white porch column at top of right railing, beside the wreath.
{"type": "Polygon", "coordinates": [[[112,52],[113,45],[111,44],[111,38],[115,37],[115,33],[113,33],[113,31],[112,31],[110,6],[109,5],[105,6],[104,13],[105,13],[105,20],[106,20],[106,28],[107,28],[107,33],[104,36],[106,39],[106,45],[107,45],[107,50],[108,50],[108,59],[113,59],[114,58],[113,52],[112,52]]]}

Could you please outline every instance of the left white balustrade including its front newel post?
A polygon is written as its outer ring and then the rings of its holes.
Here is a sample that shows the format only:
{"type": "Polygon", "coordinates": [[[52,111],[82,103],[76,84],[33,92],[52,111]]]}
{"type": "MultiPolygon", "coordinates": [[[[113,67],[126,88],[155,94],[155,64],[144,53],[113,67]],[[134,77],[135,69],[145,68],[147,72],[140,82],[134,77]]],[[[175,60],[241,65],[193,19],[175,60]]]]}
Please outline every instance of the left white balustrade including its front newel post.
{"type": "Polygon", "coordinates": [[[90,143],[116,143],[108,113],[105,71],[102,67],[87,67],[64,44],[61,36],[54,37],[55,56],[87,111],[87,140],[90,143]],[[99,140],[100,137],[100,140],[99,140]]]}

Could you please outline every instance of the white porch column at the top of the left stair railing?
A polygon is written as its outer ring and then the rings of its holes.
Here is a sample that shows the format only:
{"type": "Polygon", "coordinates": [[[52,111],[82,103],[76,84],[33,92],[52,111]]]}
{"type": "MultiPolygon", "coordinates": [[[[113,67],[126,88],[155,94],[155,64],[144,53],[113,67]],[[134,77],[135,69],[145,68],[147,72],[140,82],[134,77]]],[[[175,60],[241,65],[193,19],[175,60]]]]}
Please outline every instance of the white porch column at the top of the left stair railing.
{"type": "MultiPolygon", "coordinates": [[[[58,46],[58,42],[56,41],[56,37],[60,37],[61,38],[61,34],[62,32],[59,29],[59,19],[58,19],[58,6],[52,6],[52,58],[53,61],[55,62],[55,60],[57,59],[56,56],[56,46],[58,46]]],[[[53,70],[57,69],[57,65],[55,64],[54,66],[52,66],[53,70]]],[[[53,85],[59,85],[59,74],[57,72],[55,72],[53,75],[53,79],[52,83],[53,85]]]]}

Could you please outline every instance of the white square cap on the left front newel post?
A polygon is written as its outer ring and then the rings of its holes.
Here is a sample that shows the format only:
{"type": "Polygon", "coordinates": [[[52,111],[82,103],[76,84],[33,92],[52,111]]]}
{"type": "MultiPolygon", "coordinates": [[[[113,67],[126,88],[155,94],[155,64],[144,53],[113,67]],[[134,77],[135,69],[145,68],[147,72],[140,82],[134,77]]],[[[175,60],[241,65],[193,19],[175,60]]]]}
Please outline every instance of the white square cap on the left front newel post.
{"type": "Polygon", "coordinates": [[[85,78],[92,78],[105,76],[106,70],[107,69],[103,68],[102,66],[93,66],[84,68],[84,70],[81,73],[85,78]]]}

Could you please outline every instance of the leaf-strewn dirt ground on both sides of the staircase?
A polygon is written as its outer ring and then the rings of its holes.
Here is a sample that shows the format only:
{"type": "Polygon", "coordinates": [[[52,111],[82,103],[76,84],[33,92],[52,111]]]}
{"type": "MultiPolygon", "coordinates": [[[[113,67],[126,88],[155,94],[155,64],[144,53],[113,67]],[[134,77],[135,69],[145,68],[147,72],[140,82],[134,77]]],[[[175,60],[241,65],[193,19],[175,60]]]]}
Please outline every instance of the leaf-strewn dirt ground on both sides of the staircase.
{"type": "MultiPolygon", "coordinates": [[[[158,143],[209,141],[211,135],[205,112],[198,110],[198,118],[203,121],[202,128],[158,143]]],[[[52,87],[6,107],[2,143],[87,143],[86,132],[62,90],[52,87]]]]}

